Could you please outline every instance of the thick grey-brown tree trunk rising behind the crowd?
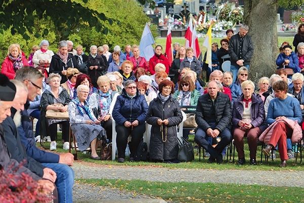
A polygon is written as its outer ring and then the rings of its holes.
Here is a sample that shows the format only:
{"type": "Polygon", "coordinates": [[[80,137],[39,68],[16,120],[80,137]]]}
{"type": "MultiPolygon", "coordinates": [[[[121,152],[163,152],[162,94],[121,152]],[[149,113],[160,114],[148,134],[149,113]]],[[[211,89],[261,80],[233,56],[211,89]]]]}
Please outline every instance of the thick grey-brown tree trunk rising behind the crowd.
{"type": "Polygon", "coordinates": [[[277,0],[244,1],[244,23],[249,26],[248,35],[252,38],[254,48],[249,78],[255,82],[261,77],[270,77],[277,69],[277,10],[277,0]]]}

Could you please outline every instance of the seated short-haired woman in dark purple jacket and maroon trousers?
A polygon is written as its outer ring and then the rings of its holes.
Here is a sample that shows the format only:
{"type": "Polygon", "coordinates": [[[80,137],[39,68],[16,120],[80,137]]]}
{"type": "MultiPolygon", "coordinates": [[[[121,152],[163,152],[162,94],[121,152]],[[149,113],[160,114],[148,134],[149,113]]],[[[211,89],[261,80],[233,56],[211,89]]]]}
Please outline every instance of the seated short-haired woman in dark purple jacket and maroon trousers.
{"type": "Polygon", "coordinates": [[[238,164],[245,163],[244,136],[247,135],[250,165],[256,165],[257,138],[268,126],[265,122],[264,103],[254,92],[252,81],[242,83],[242,92],[243,94],[234,101],[231,119],[235,146],[239,154],[238,164]]]}

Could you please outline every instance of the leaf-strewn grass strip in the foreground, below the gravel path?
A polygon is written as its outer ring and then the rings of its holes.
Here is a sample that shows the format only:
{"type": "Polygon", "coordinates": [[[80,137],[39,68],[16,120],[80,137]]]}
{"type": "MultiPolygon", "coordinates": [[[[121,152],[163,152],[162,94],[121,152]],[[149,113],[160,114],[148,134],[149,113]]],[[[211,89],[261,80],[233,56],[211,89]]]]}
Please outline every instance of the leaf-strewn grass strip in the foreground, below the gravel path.
{"type": "Polygon", "coordinates": [[[303,188],[261,185],[149,182],[141,180],[78,180],[94,186],[109,186],[170,202],[304,202],[303,188]]]}

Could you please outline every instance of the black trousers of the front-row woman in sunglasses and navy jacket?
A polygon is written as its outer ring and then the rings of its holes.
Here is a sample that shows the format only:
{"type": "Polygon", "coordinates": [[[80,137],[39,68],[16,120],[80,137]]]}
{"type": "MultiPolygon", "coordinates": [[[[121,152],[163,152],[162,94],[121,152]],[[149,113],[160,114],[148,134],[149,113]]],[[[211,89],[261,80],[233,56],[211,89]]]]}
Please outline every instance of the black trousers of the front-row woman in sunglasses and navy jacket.
{"type": "Polygon", "coordinates": [[[125,151],[128,143],[128,137],[131,134],[132,141],[129,142],[130,148],[130,158],[134,158],[138,145],[143,138],[143,133],[145,131],[145,123],[139,124],[136,127],[125,127],[124,125],[116,126],[116,143],[118,150],[118,158],[125,158],[125,151]]]}

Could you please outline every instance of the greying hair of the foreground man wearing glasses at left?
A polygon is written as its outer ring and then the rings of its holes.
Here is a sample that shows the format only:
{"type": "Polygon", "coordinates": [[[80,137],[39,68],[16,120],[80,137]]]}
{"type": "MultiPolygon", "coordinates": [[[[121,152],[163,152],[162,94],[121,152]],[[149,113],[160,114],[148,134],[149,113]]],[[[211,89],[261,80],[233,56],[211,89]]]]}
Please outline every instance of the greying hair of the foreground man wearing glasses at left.
{"type": "Polygon", "coordinates": [[[37,69],[32,66],[23,66],[22,69],[16,72],[15,80],[23,82],[25,80],[35,81],[37,79],[43,78],[44,75],[40,73],[37,69]]]}

